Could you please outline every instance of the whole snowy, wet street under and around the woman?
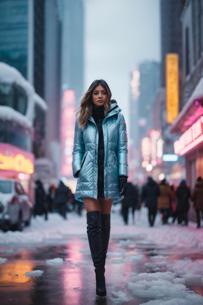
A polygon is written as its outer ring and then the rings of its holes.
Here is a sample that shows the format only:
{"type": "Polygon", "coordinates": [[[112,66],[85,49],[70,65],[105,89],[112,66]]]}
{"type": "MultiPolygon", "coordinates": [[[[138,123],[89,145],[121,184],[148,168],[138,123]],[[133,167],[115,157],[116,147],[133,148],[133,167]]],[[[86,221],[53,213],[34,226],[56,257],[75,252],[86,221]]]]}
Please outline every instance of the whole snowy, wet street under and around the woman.
{"type": "Polygon", "coordinates": [[[22,232],[0,230],[0,304],[203,304],[203,228],[162,225],[159,214],[151,228],[146,208],[126,226],[119,210],[111,212],[106,299],[95,296],[83,211],[67,220],[37,216],[22,232]]]}

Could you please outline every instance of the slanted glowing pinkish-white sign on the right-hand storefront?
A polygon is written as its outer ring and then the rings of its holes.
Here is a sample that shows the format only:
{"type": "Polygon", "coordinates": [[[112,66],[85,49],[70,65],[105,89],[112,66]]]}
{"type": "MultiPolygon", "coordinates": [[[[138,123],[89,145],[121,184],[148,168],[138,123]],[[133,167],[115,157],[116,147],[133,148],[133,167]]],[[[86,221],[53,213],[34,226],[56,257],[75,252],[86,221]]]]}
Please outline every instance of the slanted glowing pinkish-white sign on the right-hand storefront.
{"type": "Polygon", "coordinates": [[[203,116],[199,118],[179,140],[174,143],[174,151],[178,155],[184,155],[202,142],[203,139],[203,116]]]}

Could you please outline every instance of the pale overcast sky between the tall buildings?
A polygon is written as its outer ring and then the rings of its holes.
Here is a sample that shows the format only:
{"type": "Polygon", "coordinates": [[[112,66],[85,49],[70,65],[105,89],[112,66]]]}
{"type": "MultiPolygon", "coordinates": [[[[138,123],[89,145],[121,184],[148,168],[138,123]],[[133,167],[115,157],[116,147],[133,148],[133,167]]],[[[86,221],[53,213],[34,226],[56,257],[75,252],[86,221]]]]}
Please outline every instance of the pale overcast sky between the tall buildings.
{"type": "Polygon", "coordinates": [[[107,81],[128,129],[130,74],[144,60],[160,61],[160,0],[84,0],[85,84],[107,81]]]}

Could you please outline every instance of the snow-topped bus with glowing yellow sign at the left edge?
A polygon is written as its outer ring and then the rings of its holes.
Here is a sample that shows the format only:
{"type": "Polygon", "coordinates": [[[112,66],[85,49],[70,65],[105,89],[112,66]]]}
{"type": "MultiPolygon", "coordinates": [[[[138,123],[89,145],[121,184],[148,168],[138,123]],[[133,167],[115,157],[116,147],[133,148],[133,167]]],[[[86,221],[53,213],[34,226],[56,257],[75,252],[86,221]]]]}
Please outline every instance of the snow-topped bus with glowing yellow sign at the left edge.
{"type": "Polygon", "coordinates": [[[14,67],[0,62],[0,177],[34,199],[35,160],[44,156],[46,102],[14,67]]]}

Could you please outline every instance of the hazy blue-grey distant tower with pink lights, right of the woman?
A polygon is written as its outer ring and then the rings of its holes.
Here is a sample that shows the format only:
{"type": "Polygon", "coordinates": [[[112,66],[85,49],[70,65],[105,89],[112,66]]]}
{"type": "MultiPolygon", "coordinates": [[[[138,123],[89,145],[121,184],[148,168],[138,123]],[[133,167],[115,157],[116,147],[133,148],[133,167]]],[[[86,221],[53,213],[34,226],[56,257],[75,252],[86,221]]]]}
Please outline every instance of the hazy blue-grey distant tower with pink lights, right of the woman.
{"type": "MultiPolygon", "coordinates": [[[[142,183],[151,166],[152,111],[160,86],[160,64],[146,60],[132,73],[130,81],[130,169],[134,182],[142,183]]],[[[154,133],[153,133],[154,136],[154,133]]],[[[157,137],[157,135],[156,135],[157,137]]],[[[153,140],[154,141],[154,140],[153,140]]],[[[152,162],[153,163],[153,162],[152,162]]]]}

